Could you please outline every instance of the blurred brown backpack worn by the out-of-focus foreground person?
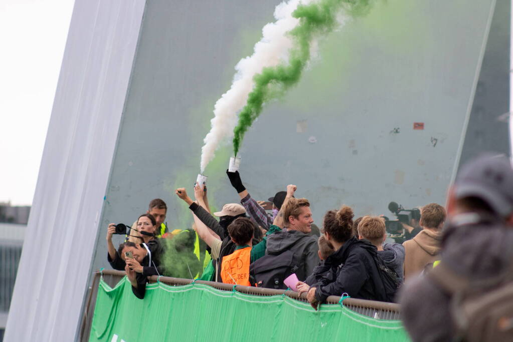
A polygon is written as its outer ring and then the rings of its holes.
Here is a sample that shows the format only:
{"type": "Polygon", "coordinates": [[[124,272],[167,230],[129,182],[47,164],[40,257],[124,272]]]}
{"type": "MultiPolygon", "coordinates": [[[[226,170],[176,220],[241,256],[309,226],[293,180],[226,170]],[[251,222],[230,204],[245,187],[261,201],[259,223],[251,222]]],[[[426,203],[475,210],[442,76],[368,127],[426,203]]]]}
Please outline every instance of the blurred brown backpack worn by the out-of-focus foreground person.
{"type": "Polygon", "coordinates": [[[450,295],[458,337],[467,342],[513,340],[513,264],[484,281],[460,276],[443,263],[426,273],[450,295]]]}

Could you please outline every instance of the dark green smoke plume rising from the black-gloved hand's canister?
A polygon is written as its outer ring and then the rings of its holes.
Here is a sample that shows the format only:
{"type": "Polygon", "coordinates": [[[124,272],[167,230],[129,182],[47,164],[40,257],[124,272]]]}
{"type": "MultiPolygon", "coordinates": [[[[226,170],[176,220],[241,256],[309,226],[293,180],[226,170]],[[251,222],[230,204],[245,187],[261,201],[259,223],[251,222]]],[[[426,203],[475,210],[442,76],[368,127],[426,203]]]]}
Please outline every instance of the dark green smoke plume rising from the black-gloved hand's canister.
{"type": "Polygon", "coordinates": [[[338,25],[337,15],[341,12],[357,17],[365,15],[374,0],[320,0],[309,5],[299,5],[292,13],[300,23],[289,32],[294,47],[289,51],[287,65],[268,67],[254,76],[254,88],[249,93],[246,105],[239,113],[239,122],[233,130],[233,151],[239,153],[244,134],[262,113],[266,101],[280,97],[297,84],[308,61],[310,44],[314,38],[332,32],[338,25]]]}

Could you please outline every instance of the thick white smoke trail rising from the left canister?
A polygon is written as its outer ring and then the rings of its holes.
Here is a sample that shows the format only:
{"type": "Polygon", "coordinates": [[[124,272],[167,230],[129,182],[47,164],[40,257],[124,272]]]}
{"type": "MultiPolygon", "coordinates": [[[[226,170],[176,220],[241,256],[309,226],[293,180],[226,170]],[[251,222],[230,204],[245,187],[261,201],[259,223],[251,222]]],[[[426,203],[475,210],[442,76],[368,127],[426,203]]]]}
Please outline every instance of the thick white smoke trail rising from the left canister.
{"type": "Polygon", "coordinates": [[[292,41],[286,33],[299,24],[292,12],[300,3],[309,4],[315,0],[289,0],[276,6],[274,23],[262,29],[262,39],[253,48],[251,56],[241,59],[235,66],[235,76],[230,89],[215,102],[214,117],[210,120],[211,129],[203,140],[201,148],[201,173],[214,158],[214,153],[226,138],[232,137],[237,123],[237,112],[246,104],[253,89],[253,76],[265,67],[274,67],[288,60],[288,51],[292,41]]]}

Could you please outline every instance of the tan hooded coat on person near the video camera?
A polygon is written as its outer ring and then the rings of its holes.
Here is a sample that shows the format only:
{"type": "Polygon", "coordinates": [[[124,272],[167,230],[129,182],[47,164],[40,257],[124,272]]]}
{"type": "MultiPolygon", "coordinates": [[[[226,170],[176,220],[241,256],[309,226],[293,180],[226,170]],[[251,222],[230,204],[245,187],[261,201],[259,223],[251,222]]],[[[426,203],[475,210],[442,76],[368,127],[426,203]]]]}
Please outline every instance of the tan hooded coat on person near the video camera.
{"type": "Polygon", "coordinates": [[[423,229],[404,246],[404,280],[424,270],[424,267],[439,260],[442,231],[423,229]]]}

